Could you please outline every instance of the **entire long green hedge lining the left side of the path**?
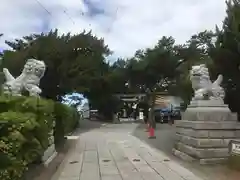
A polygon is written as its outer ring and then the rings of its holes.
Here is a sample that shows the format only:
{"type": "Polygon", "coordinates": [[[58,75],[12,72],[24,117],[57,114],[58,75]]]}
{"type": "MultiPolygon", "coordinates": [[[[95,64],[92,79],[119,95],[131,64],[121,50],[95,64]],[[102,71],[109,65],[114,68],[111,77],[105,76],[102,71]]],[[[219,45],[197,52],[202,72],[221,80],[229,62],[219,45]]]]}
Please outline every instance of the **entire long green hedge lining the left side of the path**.
{"type": "Polygon", "coordinates": [[[30,164],[41,161],[49,132],[54,128],[58,145],[78,120],[76,110],[61,103],[0,96],[0,179],[22,179],[30,164]]]}

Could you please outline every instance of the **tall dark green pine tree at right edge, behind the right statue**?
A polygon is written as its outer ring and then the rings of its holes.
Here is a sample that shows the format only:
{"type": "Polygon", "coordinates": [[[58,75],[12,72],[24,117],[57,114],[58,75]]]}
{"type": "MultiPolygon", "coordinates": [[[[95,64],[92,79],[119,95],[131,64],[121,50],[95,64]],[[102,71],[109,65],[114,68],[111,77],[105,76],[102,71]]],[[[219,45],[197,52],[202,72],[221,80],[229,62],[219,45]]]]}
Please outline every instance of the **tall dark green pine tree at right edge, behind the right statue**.
{"type": "Polygon", "coordinates": [[[224,76],[225,101],[231,110],[240,114],[240,1],[229,0],[223,28],[217,30],[218,38],[213,55],[214,64],[224,76]]]}

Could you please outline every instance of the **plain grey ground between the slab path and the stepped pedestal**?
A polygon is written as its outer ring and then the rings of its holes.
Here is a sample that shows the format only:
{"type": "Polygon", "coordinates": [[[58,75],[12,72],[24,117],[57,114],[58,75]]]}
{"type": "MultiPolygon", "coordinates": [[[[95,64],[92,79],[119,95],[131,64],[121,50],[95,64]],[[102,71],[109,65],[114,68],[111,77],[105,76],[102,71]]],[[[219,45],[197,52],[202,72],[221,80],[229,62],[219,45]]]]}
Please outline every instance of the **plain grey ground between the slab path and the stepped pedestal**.
{"type": "Polygon", "coordinates": [[[157,124],[156,139],[148,139],[148,132],[145,132],[146,125],[139,124],[133,135],[146,142],[153,148],[165,153],[171,160],[177,161],[183,167],[191,170],[205,180],[239,180],[240,172],[230,170],[226,165],[199,165],[197,162],[186,162],[172,154],[175,143],[175,126],[169,124],[157,124]]]}

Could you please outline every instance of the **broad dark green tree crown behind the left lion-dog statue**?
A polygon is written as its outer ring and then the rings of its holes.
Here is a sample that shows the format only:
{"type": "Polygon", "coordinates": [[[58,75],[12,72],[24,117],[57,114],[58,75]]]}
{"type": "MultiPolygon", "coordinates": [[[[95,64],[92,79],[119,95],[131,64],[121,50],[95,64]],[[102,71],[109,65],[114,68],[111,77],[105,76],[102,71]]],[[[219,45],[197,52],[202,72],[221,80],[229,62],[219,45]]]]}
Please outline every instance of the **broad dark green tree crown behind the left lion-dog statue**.
{"type": "Polygon", "coordinates": [[[40,85],[43,97],[56,100],[73,91],[91,94],[93,89],[101,90],[96,82],[108,71],[105,57],[111,52],[103,39],[91,32],[71,36],[53,30],[6,41],[6,44],[14,51],[4,52],[1,66],[14,76],[21,73],[27,58],[45,62],[47,71],[40,85]]]}

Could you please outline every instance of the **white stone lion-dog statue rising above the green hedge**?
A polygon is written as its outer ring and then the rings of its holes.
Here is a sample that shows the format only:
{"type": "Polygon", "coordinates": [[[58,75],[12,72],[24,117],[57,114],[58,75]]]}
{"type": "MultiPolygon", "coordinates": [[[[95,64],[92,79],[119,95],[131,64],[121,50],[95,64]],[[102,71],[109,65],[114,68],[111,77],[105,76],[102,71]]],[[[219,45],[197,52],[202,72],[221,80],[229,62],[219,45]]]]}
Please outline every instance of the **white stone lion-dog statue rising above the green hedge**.
{"type": "Polygon", "coordinates": [[[38,86],[45,70],[45,63],[36,59],[28,59],[22,73],[17,78],[14,78],[8,69],[4,68],[6,82],[3,84],[3,93],[21,96],[25,90],[29,92],[29,96],[39,96],[42,90],[38,86]]]}

